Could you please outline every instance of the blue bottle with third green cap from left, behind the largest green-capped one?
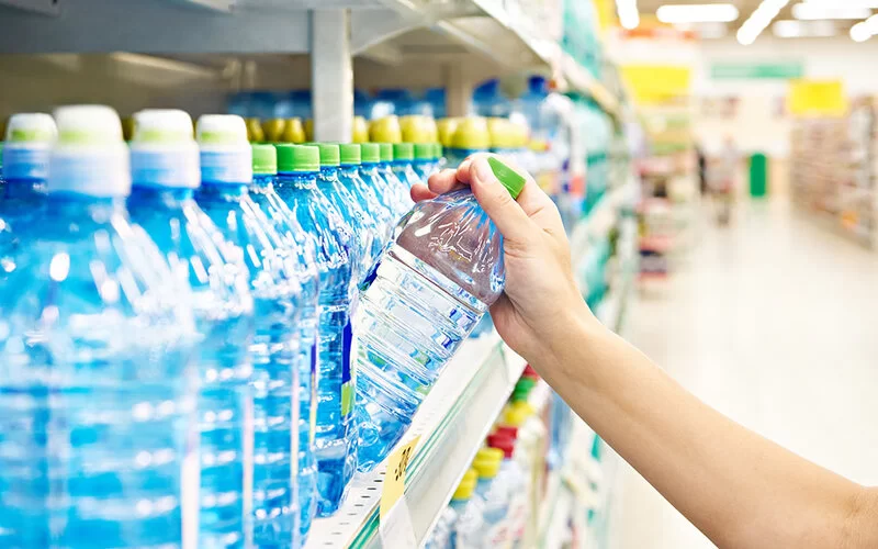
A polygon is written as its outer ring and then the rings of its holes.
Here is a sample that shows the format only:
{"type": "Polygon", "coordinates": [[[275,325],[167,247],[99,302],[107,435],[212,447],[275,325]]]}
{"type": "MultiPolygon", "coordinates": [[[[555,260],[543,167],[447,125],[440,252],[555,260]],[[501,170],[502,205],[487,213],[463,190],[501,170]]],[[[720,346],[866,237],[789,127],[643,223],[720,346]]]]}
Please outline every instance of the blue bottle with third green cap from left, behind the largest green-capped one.
{"type": "Polygon", "coordinates": [[[367,273],[374,237],[368,221],[369,213],[360,206],[353,194],[338,178],[341,167],[341,152],[338,144],[318,143],[317,148],[320,152],[320,172],[317,176],[317,187],[336,206],[353,234],[357,242],[356,256],[352,258],[353,273],[357,277],[354,280],[359,282],[361,277],[367,273]]]}

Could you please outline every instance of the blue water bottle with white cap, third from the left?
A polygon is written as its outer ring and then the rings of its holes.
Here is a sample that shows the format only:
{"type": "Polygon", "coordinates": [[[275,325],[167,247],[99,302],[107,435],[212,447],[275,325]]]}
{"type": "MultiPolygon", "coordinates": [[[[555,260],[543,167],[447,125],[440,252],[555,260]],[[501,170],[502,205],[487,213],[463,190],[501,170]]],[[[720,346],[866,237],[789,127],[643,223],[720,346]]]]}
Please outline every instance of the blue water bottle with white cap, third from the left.
{"type": "Polygon", "coordinates": [[[245,494],[252,493],[252,477],[245,471],[252,468],[254,448],[254,300],[244,251],[226,242],[195,203],[201,171],[189,114],[147,110],[134,117],[128,210],[175,276],[191,287],[201,336],[199,547],[244,547],[251,514],[245,494]]]}

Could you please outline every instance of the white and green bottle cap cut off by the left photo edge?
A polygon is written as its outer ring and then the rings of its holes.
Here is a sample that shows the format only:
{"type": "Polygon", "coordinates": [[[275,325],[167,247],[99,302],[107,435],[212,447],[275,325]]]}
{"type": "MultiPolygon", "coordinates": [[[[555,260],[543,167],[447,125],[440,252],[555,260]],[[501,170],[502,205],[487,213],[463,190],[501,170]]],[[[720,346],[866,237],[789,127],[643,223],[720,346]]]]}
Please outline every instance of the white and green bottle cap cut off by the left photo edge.
{"type": "Polygon", "coordinates": [[[7,125],[5,146],[0,150],[3,178],[46,179],[52,147],[58,138],[55,120],[42,112],[13,114],[7,125]]]}

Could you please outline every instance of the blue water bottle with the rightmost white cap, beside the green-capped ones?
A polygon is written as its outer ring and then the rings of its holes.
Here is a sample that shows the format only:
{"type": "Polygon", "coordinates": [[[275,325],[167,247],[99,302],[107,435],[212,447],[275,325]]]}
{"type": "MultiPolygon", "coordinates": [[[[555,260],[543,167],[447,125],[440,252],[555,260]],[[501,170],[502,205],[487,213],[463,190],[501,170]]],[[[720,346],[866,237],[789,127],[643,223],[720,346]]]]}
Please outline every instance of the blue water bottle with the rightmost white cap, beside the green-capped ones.
{"type": "Polygon", "coordinates": [[[252,150],[244,120],[204,115],[196,135],[201,188],[195,199],[223,236],[245,250],[254,298],[252,544],[289,547],[299,535],[296,361],[302,289],[283,237],[250,197],[252,150]]]}

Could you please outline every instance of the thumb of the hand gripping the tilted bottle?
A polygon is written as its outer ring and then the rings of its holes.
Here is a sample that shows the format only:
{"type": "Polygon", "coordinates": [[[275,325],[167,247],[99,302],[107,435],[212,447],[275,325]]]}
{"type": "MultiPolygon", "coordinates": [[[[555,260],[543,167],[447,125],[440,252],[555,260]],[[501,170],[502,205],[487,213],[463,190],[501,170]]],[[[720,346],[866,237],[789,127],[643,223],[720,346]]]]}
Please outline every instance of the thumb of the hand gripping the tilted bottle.
{"type": "Polygon", "coordinates": [[[528,214],[494,175],[487,156],[480,155],[472,158],[470,187],[475,200],[479,201],[504,238],[521,242],[528,236],[531,223],[528,214]]]}

